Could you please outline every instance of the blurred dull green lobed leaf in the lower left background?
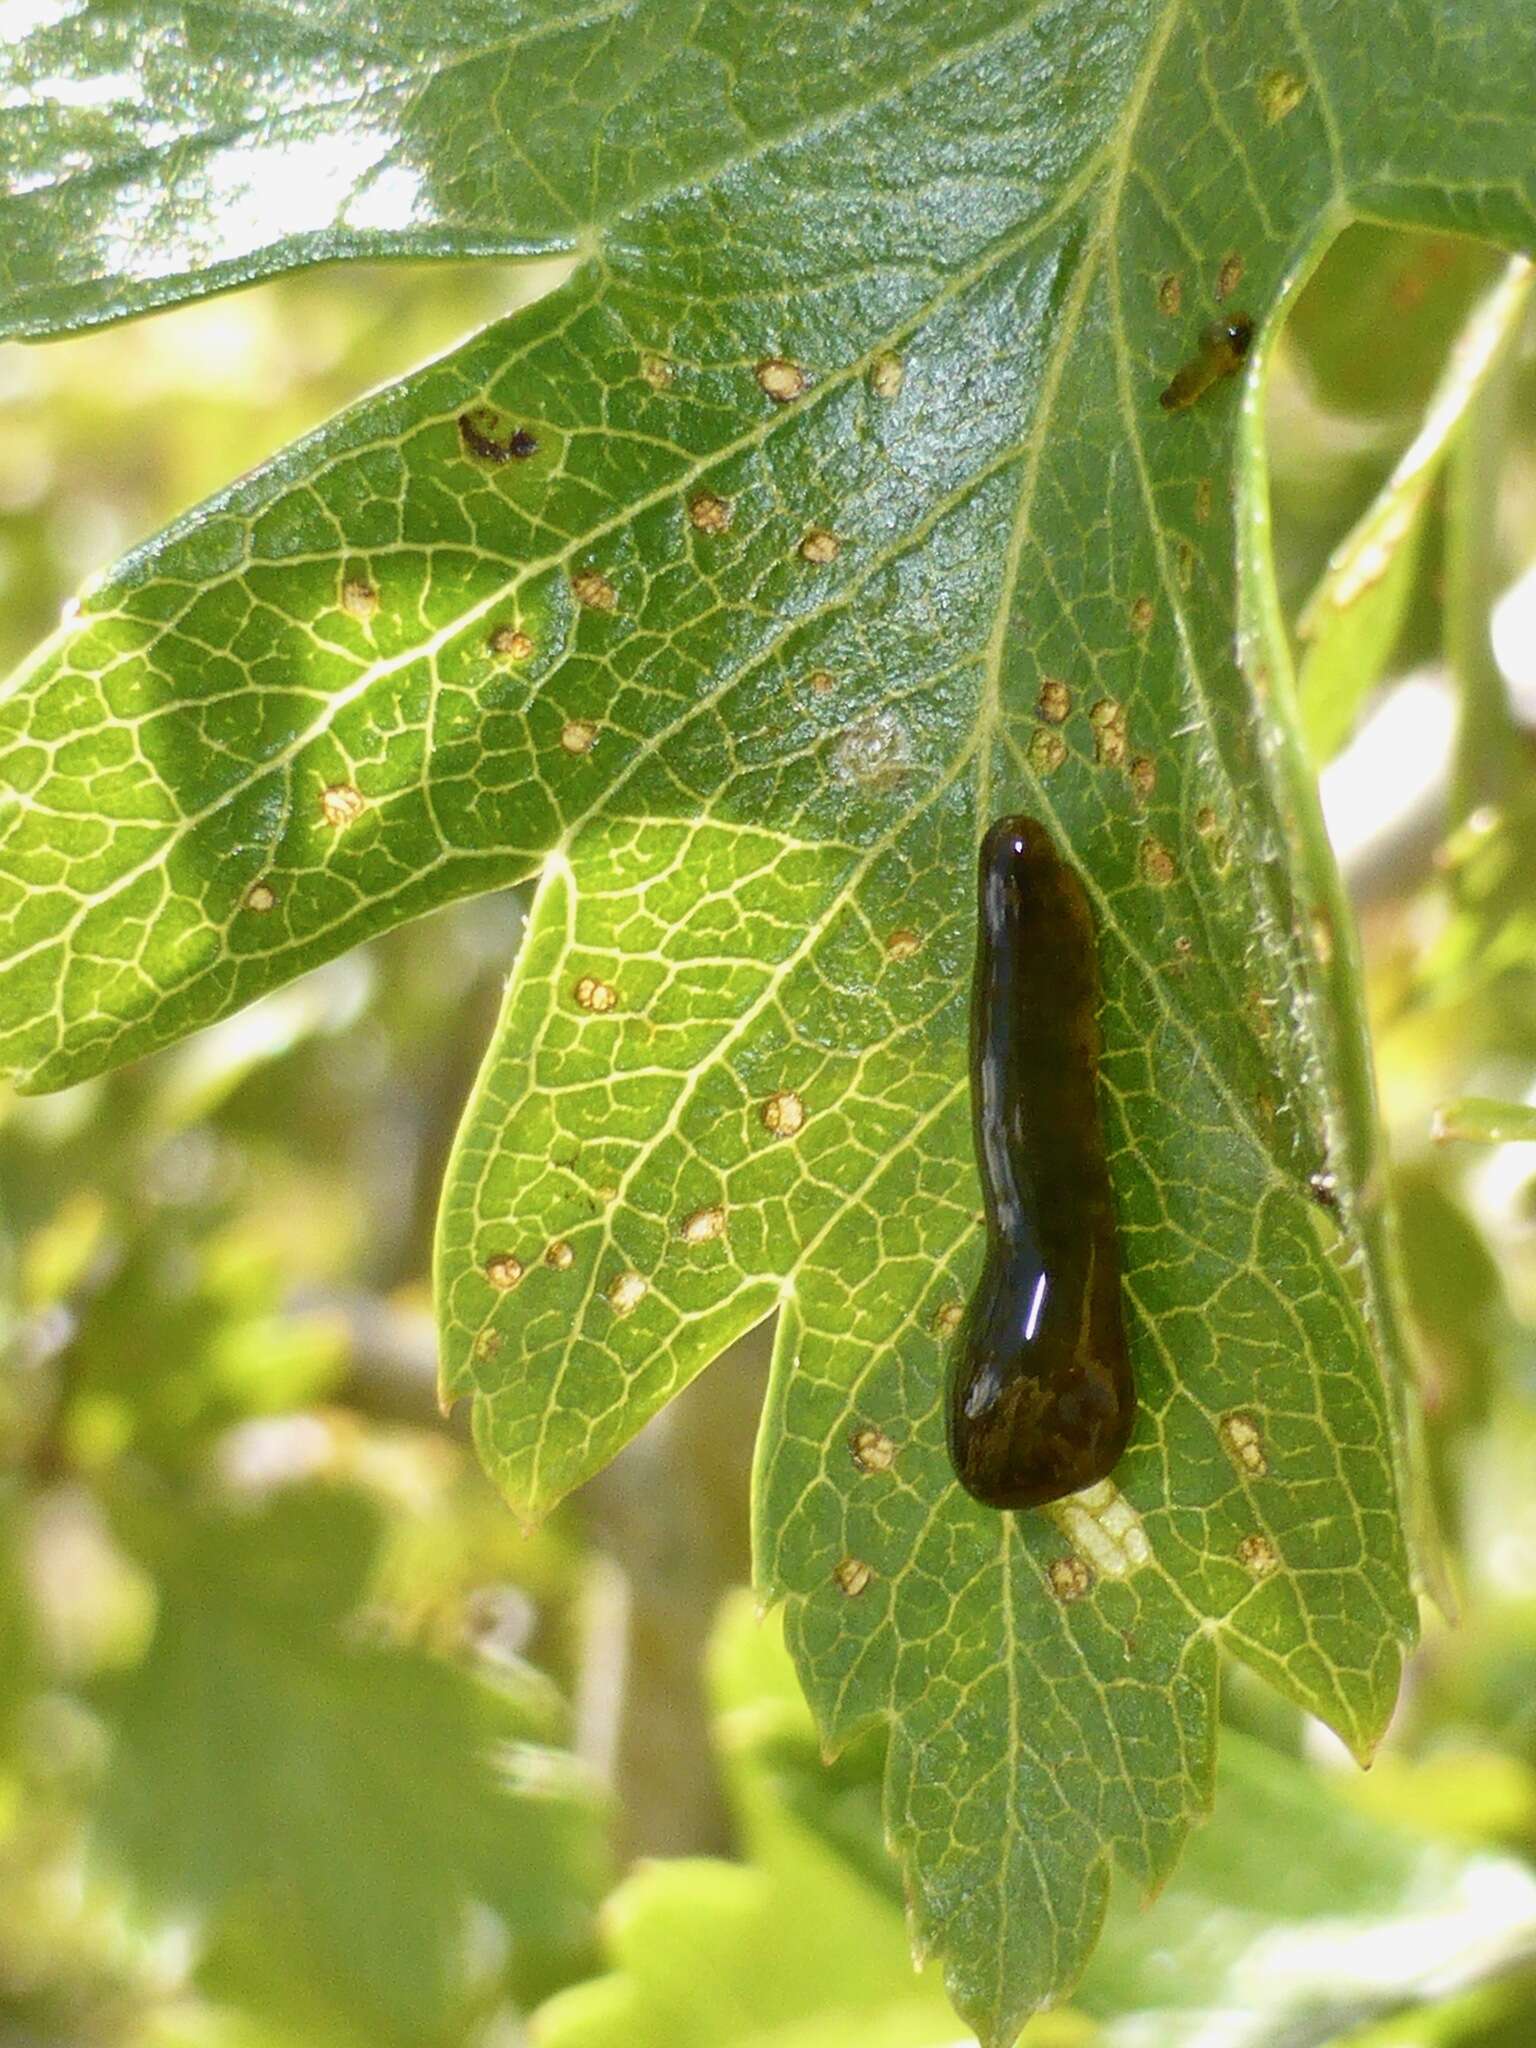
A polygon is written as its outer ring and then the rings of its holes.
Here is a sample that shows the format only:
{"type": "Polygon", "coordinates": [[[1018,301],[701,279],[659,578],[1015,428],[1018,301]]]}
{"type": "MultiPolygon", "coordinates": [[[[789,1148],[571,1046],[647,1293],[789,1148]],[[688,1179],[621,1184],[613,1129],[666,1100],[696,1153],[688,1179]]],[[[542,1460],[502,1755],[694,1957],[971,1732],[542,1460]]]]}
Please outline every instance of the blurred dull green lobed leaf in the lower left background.
{"type": "Polygon", "coordinates": [[[180,1518],[94,1825],[143,1911],[190,1915],[215,1997],[416,2044],[467,1995],[471,1907],[522,1982],[580,1958],[602,1851],[530,1702],[360,1634],[377,1538],[324,1489],[180,1518]]]}

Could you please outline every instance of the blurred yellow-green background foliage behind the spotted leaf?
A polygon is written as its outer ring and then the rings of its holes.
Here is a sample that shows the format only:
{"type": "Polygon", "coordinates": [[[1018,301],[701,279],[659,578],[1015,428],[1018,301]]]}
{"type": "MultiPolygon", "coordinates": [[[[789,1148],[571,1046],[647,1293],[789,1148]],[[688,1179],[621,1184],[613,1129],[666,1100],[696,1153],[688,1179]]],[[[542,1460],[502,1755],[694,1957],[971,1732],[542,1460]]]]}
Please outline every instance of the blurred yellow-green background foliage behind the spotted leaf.
{"type": "MultiPolygon", "coordinates": [[[[1356,227],[1298,305],[1272,393],[1292,616],[1497,268],[1356,227]]],[[[6,666],[125,543],[510,289],[313,272],[0,350],[6,666]]],[[[1495,588],[1536,557],[1509,346],[1495,588]]],[[[1384,688],[1442,659],[1446,518],[1436,479],[1384,688]]],[[[1194,2042],[1233,2003],[1233,2042],[1536,2028],[1536,1155],[1430,1141],[1438,1102],[1536,1081],[1536,797],[1513,721],[1503,743],[1507,805],[1362,899],[1464,1626],[1430,1632],[1364,1782],[1235,1675],[1217,1817],[1161,1901],[1116,1894],[1036,2048],[1194,2042]]],[[[0,1106],[0,2042],[500,2048],[535,2007],[545,2048],[954,2038],[907,1974],[879,1733],[825,1765],[739,1599],[705,1710],[760,1358],[537,1536],[436,1413],[432,1202],[518,930],[461,907],[0,1106]],[[668,1860],[621,1878],[633,1851],[668,1860]]]]}

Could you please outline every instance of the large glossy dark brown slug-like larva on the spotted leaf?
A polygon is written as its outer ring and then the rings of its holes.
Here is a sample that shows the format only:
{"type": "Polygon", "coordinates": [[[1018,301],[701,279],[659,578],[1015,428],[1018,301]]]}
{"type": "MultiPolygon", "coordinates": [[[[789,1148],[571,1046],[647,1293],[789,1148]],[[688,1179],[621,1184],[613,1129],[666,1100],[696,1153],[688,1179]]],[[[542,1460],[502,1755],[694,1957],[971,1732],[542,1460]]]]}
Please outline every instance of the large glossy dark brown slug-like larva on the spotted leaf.
{"type": "Polygon", "coordinates": [[[1098,1106],[1098,948],[1049,834],[981,842],[971,1116],[987,1260],[954,1339],[948,1442],[987,1507],[1040,1507],[1106,1479],[1137,1395],[1098,1106]]]}

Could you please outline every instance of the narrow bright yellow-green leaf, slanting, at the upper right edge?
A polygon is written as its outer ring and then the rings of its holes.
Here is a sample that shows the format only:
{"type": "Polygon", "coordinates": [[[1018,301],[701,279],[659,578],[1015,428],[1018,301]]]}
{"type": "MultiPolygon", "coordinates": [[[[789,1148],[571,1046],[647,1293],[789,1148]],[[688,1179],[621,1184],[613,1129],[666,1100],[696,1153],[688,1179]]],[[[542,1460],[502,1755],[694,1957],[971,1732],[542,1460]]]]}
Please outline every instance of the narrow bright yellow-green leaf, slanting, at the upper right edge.
{"type": "MultiPolygon", "coordinates": [[[[1354,731],[1360,707],[1386,674],[1413,598],[1434,485],[1468,410],[1524,324],[1530,283],[1532,266],[1522,256],[1513,258],[1468,319],[1419,432],[1376,502],[1333,551],[1296,623],[1307,643],[1298,676],[1300,713],[1317,762],[1337,754],[1354,731]]],[[[1487,604],[1481,631],[1487,635],[1487,604]]]]}

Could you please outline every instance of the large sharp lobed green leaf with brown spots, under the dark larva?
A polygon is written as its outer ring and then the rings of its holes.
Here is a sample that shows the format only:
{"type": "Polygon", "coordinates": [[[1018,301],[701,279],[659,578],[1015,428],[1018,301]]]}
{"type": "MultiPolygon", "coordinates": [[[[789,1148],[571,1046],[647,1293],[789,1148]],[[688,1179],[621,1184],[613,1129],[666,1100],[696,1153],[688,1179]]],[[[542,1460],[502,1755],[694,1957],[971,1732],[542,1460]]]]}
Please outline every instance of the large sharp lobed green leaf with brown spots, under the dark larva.
{"type": "MultiPolygon", "coordinates": [[[[539,1513],[780,1311],[760,1585],[827,1743],[891,1718],[920,1939],[1001,2042],[1079,1972],[1108,1860],[1155,1886],[1208,1800],[1219,1645],[1368,1751],[1413,1632],[1333,1149],[1356,1022],[1319,1022],[1315,864],[1233,655],[1262,348],[1247,401],[1157,393],[1221,293],[1264,319],[1352,215],[1528,242],[1536,31],[651,4],[485,55],[477,10],[397,12],[416,86],[373,119],[430,195],[367,246],[582,260],[131,557],[12,686],[0,1055],[63,1085],[537,881],[444,1192],[444,1389],[539,1513]],[[1100,924],[1128,1513],[999,1518],[942,1450],[973,846],[1008,809],[1100,924]]],[[[356,74],[328,20],[291,25],[322,86],[356,74]]],[[[348,133],[356,92],[291,115],[348,133]]],[[[299,209],[193,279],[182,190],[47,285],[66,197],[6,201],[23,332],[358,246],[299,209]]]]}

